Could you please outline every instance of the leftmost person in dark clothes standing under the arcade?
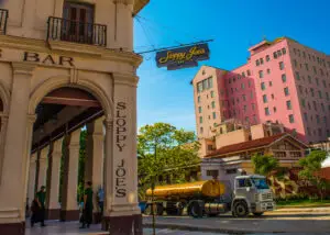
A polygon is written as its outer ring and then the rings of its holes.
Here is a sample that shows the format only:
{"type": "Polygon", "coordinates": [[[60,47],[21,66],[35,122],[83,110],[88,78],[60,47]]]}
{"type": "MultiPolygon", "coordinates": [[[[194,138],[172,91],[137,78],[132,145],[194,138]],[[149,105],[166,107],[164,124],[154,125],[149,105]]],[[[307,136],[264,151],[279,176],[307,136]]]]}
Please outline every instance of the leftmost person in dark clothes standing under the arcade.
{"type": "Polygon", "coordinates": [[[34,226],[35,223],[41,223],[41,226],[45,226],[45,200],[46,200],[46,187],[42,186],[40,191],[36,193],[35,199],[32,202],[31,211],[31,227],[34,226]]]}

